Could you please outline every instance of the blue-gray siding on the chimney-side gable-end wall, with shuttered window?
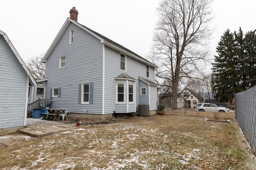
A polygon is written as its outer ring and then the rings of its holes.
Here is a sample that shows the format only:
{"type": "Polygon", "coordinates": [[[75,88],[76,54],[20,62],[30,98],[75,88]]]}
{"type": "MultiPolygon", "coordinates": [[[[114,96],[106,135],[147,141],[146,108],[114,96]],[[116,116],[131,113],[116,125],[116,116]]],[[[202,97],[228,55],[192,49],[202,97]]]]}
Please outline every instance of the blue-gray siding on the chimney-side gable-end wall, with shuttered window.
{"type": "Polygon", "coordinates": [[[60,97],[52,98],[52,107],[65,107],[72,113],[102,113],[102,55],[100,40],[71,23],[46,63],[46,99],[52,88],[61,88],[60,97]],[[74,29],[74,43],[69,44],[69,31],[74,29]],[[65,68],[59,68],[60,57],[66,56],[65,68]],[[78,84],[93,82],[93,104],[78,104],[78,84]]]}

